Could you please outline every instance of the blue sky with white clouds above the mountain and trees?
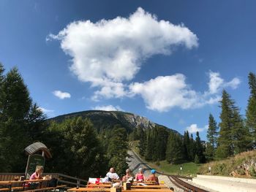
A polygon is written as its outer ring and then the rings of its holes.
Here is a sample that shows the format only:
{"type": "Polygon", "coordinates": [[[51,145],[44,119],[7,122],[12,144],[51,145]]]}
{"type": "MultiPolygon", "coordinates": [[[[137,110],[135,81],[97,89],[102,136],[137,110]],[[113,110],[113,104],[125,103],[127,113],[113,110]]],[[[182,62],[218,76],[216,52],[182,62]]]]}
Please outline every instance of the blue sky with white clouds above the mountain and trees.
{"type": "Polygon", "coordinates": [[[206,139],[225,89],[245,114],[256,1],[0,1],[0,62],[49,118],[132,112],[206,139]]]}

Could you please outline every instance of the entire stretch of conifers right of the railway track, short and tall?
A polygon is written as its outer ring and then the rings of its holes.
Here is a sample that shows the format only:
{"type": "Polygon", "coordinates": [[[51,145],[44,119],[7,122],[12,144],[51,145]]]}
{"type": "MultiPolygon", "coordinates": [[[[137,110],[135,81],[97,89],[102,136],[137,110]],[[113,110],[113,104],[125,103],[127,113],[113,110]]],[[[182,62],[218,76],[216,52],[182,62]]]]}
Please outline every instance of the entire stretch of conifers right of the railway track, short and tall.
{"type": "Polygon", "coordinates": [[[213,115],[208,117],[207,142],[196,133],[195,139],[188,131],[184,135],[162,126],[135,128],[129,139],[139,140],[139,153],[146,161],[162,161],[180,164],[184,161],[205,163],[227,158],[256,147],[256,76],[249,73],[250,95],[246,118],[240,114],[236,102],[227,91],[222,91],[220,122],[213,115]]]}

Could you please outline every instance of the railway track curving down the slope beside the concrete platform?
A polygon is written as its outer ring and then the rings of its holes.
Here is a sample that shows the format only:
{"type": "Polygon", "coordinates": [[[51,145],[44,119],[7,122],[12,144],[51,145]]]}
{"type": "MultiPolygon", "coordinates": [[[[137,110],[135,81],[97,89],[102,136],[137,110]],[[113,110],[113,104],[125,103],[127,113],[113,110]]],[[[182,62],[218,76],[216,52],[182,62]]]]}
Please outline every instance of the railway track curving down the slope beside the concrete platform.
{"type": "MultiPolygon", "coordinates": [[[[133,150],[132,150],[132,153],[135,156],[135,158],[137,158],[138,161],[140,161],[140,163],[143,164],[143,166],[145,166],[147,169],[152,169],[151,166],[148,166],[148,164],[144,164],[143,160],[133,150]]],[[[181,177],[181,178],[184,178],[184,179],[192,180],[192,177],[171,175],[171,174],[165,174],[165,173],[162,173],[162,172],[157,172],[157,173],[167,176],[170,179],[171,183],[173,183],[173,185],[176,185],[177,188],[181,188],[184,191],[209,192],[209,191],[203,190],[202,188],[197,188],[194,185],[190,185],[189,183],[186,183],[183,180],[179,179],[179,177],[181,177]]]]}

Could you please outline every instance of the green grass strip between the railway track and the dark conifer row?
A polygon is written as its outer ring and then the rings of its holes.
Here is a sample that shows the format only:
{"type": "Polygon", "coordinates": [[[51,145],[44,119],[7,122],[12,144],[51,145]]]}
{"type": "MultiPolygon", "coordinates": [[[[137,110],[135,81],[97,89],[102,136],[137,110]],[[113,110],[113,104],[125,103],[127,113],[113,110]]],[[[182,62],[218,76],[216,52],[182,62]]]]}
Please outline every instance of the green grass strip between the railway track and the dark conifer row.
{"type": "MultiPolygon", "coordinates": [[[[130,143],[131,149],[139,155],[138,141],[130,143]]],[[[181,175],[195,175],[199,172],[201,164],[195,164],[193,162],[187,162],[184,164],[168,164],[167,161],[159,161],[159,165],[156,162],[148,162],[143,157],[140,156],[144,162],[154,169],[157,169],[158,172],[164,172],[167,174],[181,174],[181,175]],[[182,172],[181,172],[182,166],[182,172]]]]}

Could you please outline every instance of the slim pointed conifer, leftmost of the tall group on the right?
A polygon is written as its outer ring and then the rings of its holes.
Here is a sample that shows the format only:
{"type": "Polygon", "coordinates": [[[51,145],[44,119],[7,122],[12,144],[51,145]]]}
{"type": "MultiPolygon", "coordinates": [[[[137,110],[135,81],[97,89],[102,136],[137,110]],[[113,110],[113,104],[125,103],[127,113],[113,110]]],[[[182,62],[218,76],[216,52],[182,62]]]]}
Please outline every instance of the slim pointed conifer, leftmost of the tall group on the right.
{"type": "Polygon", "coordinates": [[[217,148],[217,135],[217,123],[214,120],[214,116],[210,114],[207,130],[208,142],[206,144],[206,158],[208,161],[214,160],[214,155],[217,148]]]}

